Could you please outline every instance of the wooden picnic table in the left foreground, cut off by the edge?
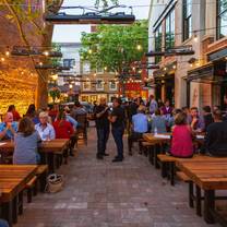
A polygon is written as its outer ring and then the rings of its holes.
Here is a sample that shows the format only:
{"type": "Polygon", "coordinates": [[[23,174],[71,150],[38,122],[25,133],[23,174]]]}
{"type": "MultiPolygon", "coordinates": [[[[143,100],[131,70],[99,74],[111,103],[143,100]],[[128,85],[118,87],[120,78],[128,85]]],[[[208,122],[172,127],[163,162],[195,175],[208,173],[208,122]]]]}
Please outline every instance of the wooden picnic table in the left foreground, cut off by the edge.
{"type": "Polygon", "coordinates": [[[10,226],[17,222],[19,196],[23,198],[23,189],[37,168],[37,165],[0,165],[0,215],[10,226]]]}

